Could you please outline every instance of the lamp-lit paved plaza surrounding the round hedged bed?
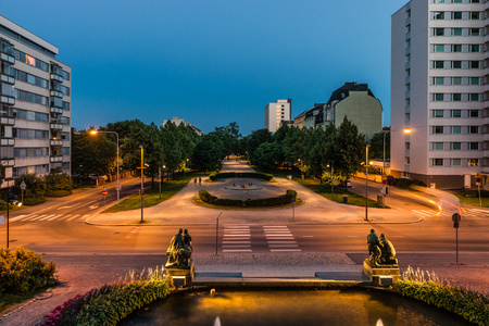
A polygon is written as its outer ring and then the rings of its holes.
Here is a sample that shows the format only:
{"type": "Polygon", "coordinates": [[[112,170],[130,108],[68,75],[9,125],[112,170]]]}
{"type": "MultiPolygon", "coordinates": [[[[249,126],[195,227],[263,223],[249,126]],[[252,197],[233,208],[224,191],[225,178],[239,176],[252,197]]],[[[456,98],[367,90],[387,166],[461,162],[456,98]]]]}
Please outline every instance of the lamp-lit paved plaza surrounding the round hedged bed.
{"type": "MultiPolygon", "coordinates": [[[[226,162],[223,171],[252,171],[246,162],[226,162]]],[[[296,205],[294,217],[297,224],[363,224],[365,208],[337,203],[325,199],[312,190],[286,178],[274,178],[272,181],[260,179],[222,179],[210,181],[202,178],[199,186],[189,183],[171,200],[155,206],[145,209],[145,220],[150,225],[190,225],[214,224],[215,217],[222,212],[221,218],[226,223],[262,223],[263,214],[256,214],[256,210],[217,210],[197,205],[192,202],[200,189],[208,190],[220,198],[267,198],[285,195],[287,189],[298,192],[298,198],[303,200],[302,205],[296,205]],[[248,185],[261,188],[260,190],[230,189],[234,184],[248,185]],[[198,218],[196,218],[198,216],[198,218]]],[[[262,209],[266,211],[266,223],[289,224],[292,221],[291,208],[262,209]]],[[[86,222],[97,225],[128,225],[140,218],[140,211],[126,211],[110,214],[98,214],[86,222]]],[[[375,223],[416,223],[423,218],[411,211],[368,208],[368,218],[375,223]]]]}

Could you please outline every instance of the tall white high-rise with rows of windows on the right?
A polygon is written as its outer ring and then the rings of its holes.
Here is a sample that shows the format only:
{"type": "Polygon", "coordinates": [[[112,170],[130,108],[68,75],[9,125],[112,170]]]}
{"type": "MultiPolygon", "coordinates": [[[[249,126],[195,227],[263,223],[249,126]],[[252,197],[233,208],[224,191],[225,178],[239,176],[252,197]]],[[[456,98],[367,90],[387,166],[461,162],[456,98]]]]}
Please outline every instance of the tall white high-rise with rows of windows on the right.
{"type": "Polygon", "coordinates": [[[488,13],[485,0],[412,0],[392,15],[392,175],[488,184],[488,13]]]}

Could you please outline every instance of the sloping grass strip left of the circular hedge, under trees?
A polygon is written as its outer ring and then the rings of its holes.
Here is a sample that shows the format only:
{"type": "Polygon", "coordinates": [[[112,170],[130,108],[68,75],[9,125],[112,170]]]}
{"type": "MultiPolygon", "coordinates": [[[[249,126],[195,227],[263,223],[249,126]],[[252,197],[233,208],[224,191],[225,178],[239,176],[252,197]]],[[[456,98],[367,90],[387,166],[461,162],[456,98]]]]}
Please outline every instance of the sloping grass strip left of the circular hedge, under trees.
{"type": "MultiPolygon", "coordinates": [[[[170,181],[165,180],[161,185],[161,198],[160,198],[160,187],[158,183],[154,183],[153,187],[145,189],[145,198],[142,204],[145,208],[158,205],[162,201],[167,200],[168,198],[180,191],[181,188],[184,188],[193,178],[203,177],[206,175],[209,174],[205,174],[204,172],[191,172],[187,173],[185,178],[181,176],[180,178],[177,177],[176,179],[170,179],[170,181]]],[[[139,196],[139,193],[136,193],[121,201],[118,208],[117,204],[115,204],[103,211],[103,213],[115,213],[121,211],[137,210],[140,208],[141,208],[141,197],[139,196]]]]}

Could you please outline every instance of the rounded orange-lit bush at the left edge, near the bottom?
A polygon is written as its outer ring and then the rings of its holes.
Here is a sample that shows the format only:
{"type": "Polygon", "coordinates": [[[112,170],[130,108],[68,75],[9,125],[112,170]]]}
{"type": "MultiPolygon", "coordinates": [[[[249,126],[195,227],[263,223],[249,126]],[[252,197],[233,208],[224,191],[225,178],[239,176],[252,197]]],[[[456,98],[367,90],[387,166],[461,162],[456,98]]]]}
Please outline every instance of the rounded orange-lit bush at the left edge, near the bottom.
{"type": "Polygon", "coordinates": [[[41,255],[18,247],[0,249],[0,293],[25,294],[58,284],[55,264],[41,255]]]}

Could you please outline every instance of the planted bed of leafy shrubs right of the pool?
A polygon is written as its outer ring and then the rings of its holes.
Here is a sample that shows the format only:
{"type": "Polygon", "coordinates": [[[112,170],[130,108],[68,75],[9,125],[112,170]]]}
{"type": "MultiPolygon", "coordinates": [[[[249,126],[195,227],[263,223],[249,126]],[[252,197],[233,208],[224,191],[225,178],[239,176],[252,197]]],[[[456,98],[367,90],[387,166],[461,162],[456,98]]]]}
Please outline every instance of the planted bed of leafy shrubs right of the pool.
{"type": "MultiPolygon", "coordinates": [[[[418,277],[423,273],[411,267],[403,273],[402,279],[393,285],[393,289],[402,296],[443,308],[456,313],[476,325],[489,325],[489,298],[462,288],[443,285],[439,279],[418,277]]],[[[429,273],[428,273],[429,275],[429,273]]]]}

